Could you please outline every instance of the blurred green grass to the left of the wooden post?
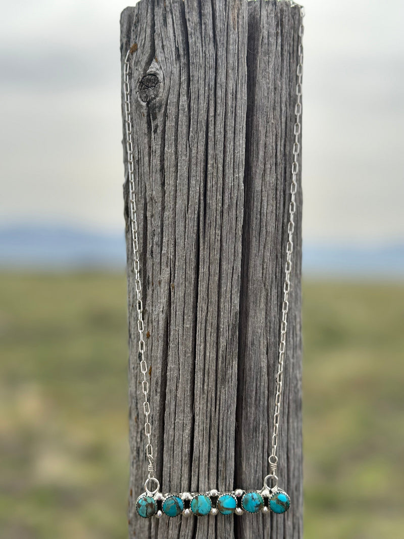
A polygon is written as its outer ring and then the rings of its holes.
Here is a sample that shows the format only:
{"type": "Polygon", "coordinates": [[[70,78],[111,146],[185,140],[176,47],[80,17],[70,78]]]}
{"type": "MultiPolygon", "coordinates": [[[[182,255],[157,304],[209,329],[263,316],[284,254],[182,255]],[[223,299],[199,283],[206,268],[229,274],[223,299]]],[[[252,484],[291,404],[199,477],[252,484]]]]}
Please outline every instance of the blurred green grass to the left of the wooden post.
{"type": "Polygon", "coordinates": [[[2,275],[0,536],[127,536],[123,275],[2,275]]]}

